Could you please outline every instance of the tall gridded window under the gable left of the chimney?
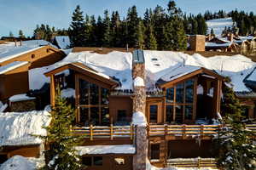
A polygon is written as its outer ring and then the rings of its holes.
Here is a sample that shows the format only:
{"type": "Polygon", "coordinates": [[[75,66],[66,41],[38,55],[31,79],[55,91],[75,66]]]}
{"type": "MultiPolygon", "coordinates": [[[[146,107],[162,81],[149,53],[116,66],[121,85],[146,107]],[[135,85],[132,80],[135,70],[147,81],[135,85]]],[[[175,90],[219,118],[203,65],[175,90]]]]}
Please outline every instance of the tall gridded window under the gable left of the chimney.
{"type": "Polygon", "coordinates": [[[79,79],[79,118],[84,126],[109,124],[109,91],[79,79]]]}

